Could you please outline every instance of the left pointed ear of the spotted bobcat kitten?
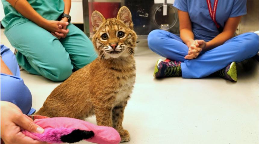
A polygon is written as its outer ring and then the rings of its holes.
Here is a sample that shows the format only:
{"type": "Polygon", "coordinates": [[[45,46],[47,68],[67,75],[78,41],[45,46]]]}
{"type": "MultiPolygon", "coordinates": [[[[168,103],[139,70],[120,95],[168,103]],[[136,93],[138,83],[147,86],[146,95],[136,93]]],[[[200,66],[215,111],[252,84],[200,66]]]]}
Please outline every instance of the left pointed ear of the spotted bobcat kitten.
{"type": "Polygon", "coordinates": [[[94,11],[92,13],[92,25],[93,25],[93,32],[95,33],[98,28],[100,27],[101,23],[105,21],[105,18],[99,11],[94,11]]]}

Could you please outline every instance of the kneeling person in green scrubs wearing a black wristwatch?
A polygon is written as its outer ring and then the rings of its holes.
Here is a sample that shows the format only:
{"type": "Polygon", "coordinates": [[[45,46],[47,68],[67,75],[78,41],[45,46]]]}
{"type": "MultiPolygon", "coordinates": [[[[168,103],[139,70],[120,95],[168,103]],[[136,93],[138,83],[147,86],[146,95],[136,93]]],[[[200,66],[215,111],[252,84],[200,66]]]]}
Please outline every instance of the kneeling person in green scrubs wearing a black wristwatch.
{"type": "Polygon", "coordinates": [[[2,0],[5,36],[17,49],[18,64],[52,81],[66,80],[72,71],[96,57],[89,38],[69,22],[71,0],[2,0]],[[62,17],[62,18],[61,18],[62,17]]]}

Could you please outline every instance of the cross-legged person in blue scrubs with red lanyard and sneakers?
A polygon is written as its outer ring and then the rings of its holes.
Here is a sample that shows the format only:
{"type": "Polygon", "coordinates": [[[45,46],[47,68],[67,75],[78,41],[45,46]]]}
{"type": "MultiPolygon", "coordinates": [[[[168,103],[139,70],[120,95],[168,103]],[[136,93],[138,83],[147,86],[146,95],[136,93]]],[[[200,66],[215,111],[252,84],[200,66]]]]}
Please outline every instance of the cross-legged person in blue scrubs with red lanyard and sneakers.
{"type": "Polygon", "coordinates": [[[157,61],[155,77],[202,78],[217,74],[237,81],[236,62],[258,53],[258,35],[233,37],[241,16],[246,14],[246,0],[218,0],[216,9],[215,1],[175,0],[180,37],[164,30],[153,30],[148,35],[149,48],[167,58],[157,61]]]}

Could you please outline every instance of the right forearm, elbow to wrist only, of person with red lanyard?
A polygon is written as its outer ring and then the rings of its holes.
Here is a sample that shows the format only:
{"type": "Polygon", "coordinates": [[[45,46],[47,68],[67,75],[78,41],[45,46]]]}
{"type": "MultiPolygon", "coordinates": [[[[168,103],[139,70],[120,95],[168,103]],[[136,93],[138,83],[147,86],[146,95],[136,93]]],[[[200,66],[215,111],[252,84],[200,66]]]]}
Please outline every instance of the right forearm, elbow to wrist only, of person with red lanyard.
{"type": "Polygon", "coordinates": [[[206,46],[203,49],[204,51],[209,51],[211,49],[214,49],[215,47],[222,45],[224,42],[226,42],[228,39],[231,39],[234,36],[232,32],[229,31],[223,31],[219,35],[217,35],[214,39],[212,39],[209,42],[206,42],[206,46]]]}

